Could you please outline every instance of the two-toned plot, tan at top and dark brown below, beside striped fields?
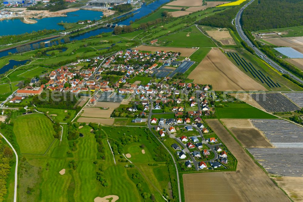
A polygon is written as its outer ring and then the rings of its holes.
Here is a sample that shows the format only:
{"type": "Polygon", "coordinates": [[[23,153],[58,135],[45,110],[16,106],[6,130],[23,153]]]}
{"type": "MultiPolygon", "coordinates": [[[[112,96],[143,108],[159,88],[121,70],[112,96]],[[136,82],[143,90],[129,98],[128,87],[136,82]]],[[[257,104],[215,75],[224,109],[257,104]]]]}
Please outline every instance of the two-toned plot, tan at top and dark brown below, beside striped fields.
{"type": "Polygon", "coordinates": [[[246,148],[273,148],[271,143],[248,119],[221,119],[223,124],[246,148]]]}

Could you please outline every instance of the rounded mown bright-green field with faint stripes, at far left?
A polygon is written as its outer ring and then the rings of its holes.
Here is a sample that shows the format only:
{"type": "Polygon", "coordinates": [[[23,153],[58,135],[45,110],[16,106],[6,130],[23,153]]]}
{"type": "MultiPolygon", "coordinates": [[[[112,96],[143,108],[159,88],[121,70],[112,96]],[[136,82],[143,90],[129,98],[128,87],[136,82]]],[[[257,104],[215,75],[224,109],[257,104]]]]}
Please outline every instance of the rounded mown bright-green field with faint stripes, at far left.
{"type": "Polygon", "coordinates": [[[43,154],[54,140],[53,124],[44,114],[19,116],[13,123],[21,153],[43,154]]]}

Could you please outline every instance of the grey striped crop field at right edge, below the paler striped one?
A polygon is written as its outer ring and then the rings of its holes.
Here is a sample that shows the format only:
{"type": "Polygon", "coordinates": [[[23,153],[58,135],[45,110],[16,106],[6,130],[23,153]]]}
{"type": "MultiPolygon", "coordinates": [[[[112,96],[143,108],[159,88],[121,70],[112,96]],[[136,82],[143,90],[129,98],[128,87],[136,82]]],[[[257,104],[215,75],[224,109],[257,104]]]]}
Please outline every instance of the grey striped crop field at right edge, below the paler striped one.
{"type": "Polygon", "coordinates": [[[303,175],[303,149],[248,148],[247,150],[270,174],[292,177],[303,175]]]}

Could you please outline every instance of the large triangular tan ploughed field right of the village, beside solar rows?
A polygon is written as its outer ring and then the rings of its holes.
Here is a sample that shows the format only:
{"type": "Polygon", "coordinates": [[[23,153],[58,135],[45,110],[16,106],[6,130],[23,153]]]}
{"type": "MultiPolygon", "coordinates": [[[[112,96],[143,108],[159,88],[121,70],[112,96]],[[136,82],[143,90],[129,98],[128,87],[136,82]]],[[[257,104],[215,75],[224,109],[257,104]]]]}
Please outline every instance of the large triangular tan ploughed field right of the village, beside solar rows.
{"type": "Polygon", "coordinates": [[[213,48],[188,75],[195,83],[211,83],[217,91],[249,91],[267,89],[236,67],[218,48],[213,48]]]}

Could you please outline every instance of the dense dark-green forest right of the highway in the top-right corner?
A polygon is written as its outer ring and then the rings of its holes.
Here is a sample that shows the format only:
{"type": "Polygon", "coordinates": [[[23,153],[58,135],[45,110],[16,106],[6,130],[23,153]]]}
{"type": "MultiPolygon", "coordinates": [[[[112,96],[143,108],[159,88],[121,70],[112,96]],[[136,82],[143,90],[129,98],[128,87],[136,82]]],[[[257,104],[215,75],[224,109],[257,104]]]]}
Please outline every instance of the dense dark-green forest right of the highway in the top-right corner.
{"type": "Polygon", "coordinates": [[[303,25],[302,0],[256,0],[244,9],[241,24],[249,31],[303,25]]]}

